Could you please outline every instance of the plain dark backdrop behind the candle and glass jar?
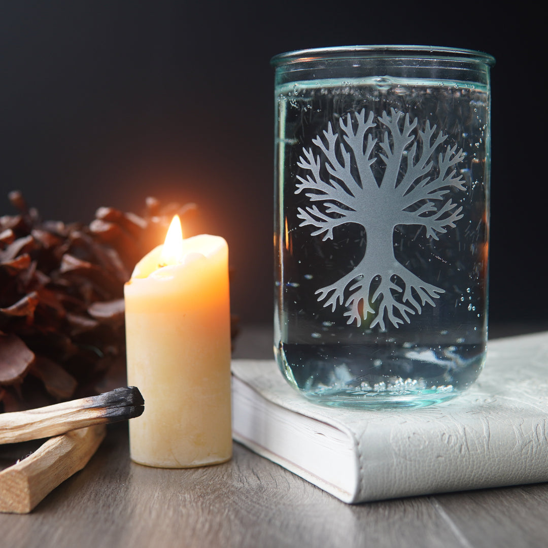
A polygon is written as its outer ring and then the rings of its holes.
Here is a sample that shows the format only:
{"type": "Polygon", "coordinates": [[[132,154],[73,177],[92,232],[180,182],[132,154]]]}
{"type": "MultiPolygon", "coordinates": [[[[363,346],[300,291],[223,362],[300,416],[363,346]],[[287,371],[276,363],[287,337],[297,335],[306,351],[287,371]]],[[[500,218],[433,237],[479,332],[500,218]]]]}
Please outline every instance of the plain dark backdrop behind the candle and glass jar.
{"type": "Polygon", "coordinates": [[[64,221],[89,222],[99,206],[140,213],[149,195],[197,202],[193,230],[229,242],[233,310],[270,322],[271,56],[349,44],[479,49],[496,58],[490,321],[546,324],[541,19],[525,2],[496,5],[0,2],[0,214],[13,212],[13,189],[64,221]]]}

